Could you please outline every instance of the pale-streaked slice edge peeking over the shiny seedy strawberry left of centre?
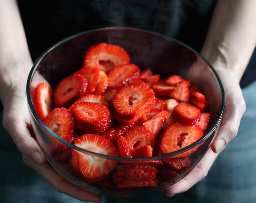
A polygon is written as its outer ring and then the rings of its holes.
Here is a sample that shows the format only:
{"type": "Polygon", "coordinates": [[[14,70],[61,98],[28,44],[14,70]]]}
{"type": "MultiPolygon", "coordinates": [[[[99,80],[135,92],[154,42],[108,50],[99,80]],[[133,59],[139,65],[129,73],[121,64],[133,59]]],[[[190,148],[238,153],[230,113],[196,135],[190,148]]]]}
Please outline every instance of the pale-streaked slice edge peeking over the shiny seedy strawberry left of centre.
{"type": "Polygon", "coordinates": [[[73,109],[73,107],[77,104],[77,103],[82,103],[82,102],[94,102],[94,103],[99,103],[104,105],[105,107],[107,107],[109,109],[109,103],[106,100],[106,98],[102,95],[96,95],[96,94],[86,94],[85,96],[83,96],[82,98],[79,98],[78,100],[76,100],[69,108],[68,110],[71,111],[71,109],[73,109]]]}

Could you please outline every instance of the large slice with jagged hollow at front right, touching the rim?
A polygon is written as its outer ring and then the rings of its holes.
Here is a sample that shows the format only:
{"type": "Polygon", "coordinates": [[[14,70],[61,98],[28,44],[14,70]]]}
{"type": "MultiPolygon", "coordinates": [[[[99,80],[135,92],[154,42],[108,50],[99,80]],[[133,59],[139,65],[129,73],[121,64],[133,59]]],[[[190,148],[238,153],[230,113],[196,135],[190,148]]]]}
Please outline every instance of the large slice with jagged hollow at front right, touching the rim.
{"type": "MultiPolygon", "coordinates": [[[[197,125],[174,122],[164,131],[161,149],[164,153],[175,152],[196,142],[203,135],[200,127],[197,125]]],[[[186,157],[196,149],[197,147],[179,154],[177,157],[186,157]]]]}

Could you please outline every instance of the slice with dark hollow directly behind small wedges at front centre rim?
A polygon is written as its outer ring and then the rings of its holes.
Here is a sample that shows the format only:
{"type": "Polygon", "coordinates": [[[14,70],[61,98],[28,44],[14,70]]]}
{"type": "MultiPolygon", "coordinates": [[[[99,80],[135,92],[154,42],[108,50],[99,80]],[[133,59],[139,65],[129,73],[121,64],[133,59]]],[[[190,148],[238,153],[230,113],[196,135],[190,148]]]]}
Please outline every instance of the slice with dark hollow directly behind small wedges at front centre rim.
{"type": "Polygon", "coordinates": [[[154,147],[155,144],[153,134],[142,126],[129,128],[123,137],[127,140],[131,149],[145,145],[154,147]]]}

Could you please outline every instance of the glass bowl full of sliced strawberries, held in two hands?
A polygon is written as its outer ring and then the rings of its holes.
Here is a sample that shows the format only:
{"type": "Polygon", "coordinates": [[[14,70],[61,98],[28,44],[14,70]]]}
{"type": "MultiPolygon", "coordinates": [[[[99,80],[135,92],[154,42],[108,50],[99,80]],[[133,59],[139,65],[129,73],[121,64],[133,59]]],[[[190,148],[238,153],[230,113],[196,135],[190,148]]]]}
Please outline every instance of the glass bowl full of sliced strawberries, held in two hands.
{"type": "Polygon", "coordinates": [[[204,157],[225,96],[212,66],[163,35],[104,28],[45,51],[27,81],[30,121],[54,169],[112,197],[164,190],[204,157]]]}

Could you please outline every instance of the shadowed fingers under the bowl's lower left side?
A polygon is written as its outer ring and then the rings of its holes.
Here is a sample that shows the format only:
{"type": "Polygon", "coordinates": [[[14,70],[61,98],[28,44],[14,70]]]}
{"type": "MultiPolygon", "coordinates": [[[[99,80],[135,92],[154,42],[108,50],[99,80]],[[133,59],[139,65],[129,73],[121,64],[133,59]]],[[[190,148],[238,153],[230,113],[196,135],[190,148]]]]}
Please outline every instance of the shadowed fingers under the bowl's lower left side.
{"type": "Polygon", "coordinates": [[[93,201],[93,202],[101,202],[101,197],[92,194],[90,192],[86,192],[72,183],[65,180],[62,176],[60,176],[48,163],[44,163],[43,165],[35,164],[30,158],[23,155],[24,163],[37,171],[42,177],[49,182],[52,187],[58,192],[64,193],[80,201],[93,201]]]}

